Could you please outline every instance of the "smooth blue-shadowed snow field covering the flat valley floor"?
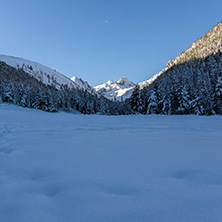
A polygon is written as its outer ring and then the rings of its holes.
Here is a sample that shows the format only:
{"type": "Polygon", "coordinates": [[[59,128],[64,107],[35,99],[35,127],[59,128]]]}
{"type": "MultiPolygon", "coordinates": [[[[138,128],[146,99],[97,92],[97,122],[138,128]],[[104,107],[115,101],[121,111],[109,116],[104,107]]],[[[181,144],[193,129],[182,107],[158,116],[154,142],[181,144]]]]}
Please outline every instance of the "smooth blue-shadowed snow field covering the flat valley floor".
{"type": "Polygon", "coordinates": [[[221,222],[221,123],[0,104],[0,221],[221,222]]]}

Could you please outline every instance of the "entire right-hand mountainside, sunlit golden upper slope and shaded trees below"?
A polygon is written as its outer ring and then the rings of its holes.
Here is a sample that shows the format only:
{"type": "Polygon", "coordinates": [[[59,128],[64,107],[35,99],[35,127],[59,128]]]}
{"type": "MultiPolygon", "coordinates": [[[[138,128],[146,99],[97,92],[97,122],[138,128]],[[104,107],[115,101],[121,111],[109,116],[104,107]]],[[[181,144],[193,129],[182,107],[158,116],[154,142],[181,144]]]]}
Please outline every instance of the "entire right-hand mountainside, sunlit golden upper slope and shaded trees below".
{"type": "Polygon", "coordinates": [[[133,113],[222,114],[222,22],[135,86],[133,113]]]}

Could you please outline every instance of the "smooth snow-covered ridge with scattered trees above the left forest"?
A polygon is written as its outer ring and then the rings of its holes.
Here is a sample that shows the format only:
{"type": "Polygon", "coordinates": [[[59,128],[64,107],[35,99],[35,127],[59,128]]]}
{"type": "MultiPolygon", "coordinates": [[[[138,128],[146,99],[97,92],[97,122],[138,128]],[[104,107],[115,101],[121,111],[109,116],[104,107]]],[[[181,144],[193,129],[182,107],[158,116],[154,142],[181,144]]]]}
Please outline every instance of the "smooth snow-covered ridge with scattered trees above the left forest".
{"type": "Polygon", "coordinates": [[[54,86],[56,89],[61,89],[62,86],[67,86],[68,88],[82,89],[93,95],[98,95],[93,87],[82,79],[78,79],[77,77],[69,79],[56,70],[37,62],[7,55],[0,55],[0,61],[3,61],[16,69],[20,68],[43,84],[54,86]]]}

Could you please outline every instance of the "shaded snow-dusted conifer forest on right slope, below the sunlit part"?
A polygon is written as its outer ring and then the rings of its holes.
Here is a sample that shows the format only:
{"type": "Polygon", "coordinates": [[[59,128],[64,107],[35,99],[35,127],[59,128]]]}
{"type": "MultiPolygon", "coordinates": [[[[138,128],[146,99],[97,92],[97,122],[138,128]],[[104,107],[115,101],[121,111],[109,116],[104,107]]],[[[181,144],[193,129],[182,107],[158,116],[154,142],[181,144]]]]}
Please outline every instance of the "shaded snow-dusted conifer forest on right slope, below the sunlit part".
{"type": "Polygon", "coordinates": [[[222,114],[222,52],[167,69],[153,83],[135,87],[133,113],[222,114]]]}

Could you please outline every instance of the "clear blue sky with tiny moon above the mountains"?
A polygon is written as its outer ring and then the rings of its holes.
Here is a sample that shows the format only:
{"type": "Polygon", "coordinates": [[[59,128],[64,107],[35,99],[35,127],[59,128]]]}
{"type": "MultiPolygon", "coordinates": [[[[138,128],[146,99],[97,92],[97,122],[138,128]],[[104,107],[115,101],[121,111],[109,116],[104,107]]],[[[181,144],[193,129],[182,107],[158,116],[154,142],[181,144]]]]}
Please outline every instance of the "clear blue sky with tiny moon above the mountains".
{"type": "Polygon", "coordinates": [[[222,20],[221,0],[0,0],[0,54],[137,83],[222,20]]]}

